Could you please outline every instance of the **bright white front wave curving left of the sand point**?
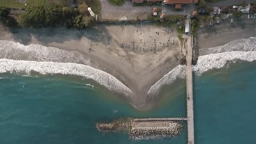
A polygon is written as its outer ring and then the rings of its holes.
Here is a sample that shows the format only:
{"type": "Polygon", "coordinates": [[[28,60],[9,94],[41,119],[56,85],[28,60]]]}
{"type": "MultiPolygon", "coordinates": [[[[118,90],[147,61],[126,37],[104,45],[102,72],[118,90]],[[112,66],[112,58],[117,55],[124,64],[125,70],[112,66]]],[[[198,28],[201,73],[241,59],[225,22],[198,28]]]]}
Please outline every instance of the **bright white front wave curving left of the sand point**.
{"type": "Polygon", "coordinates": [[[31,72],[39,72],[40,74],[82,76],[86,79],[92,79],[98,82],[112,92],[117,92],[128,98],[135,97],[131,90],[114,76],[82,64],[0,59],[0,73],[6,72],[21,72],[28,75],[31,72]]]}

